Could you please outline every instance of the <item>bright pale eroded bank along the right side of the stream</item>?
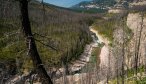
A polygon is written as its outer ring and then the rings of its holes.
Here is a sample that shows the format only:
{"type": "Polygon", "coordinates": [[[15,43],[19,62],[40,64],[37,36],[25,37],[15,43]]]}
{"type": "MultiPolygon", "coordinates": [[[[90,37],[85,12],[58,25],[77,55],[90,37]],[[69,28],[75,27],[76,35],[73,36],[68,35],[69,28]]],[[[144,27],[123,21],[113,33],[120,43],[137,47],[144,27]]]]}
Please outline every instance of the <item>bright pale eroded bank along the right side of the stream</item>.
{"type": "Polygon", "coordinates": [[[110,75],[109,78],[112,78],[115,75],[116,59],[113,56],[113,49],[109,46],[110,41],[100,35],[97,30],[91,27],[90,31],[94,32],[96,36],[98,36],[99,41],[104,43],[104,46],[101,48],[101,53],[99,55],[100,67],[97,76],[99,77],[100,81],[97,84],[106,84],[107,75],[110,75]]]}

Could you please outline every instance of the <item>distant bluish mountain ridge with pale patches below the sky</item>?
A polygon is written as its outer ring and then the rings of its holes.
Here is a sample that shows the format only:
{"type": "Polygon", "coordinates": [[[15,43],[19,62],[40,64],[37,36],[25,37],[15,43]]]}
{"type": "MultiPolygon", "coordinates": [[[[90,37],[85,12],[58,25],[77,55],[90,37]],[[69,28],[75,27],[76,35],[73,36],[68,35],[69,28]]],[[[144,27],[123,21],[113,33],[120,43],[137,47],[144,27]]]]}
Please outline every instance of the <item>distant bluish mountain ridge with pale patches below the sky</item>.
{"type": "Polygon", "coordinates": [[[70,8],[82,12],[97,13],[107,11],[114,4],[116,4],[115,0],[82,1],[70,8]]]}

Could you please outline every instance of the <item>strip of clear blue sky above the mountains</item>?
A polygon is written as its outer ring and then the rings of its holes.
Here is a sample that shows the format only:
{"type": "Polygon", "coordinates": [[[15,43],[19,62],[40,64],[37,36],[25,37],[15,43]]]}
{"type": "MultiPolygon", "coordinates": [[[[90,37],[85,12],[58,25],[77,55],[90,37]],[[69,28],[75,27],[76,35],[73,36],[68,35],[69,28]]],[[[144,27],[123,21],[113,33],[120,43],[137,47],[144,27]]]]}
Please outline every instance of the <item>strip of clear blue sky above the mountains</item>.
{"type": "Polygon", "coordinates": [[[71,7],[81,1],[91,1],[91,0],[44,0],[44,2],[61,7],[71,7]]]}

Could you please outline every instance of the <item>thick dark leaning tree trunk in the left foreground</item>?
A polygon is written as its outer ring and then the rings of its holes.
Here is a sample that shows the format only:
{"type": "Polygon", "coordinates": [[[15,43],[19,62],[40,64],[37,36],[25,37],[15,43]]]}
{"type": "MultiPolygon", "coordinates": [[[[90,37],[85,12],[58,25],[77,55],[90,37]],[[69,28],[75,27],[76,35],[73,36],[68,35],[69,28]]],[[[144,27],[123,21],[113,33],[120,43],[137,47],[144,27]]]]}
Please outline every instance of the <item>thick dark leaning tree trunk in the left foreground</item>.
{"type": "Polygon", "coordinates": [[[23,33],[26,38],[26,44],[28,47],[28,54],[31,56],[33,61],[33,65],[38,72],[39,77],[42,79],[43,84],[53,84],[51,78],[48,76],[43,64],[40,59],[39,53],[37,51],[37,47],[35,44],[34,37],[32,35],[29,16],[28,16],[28,0],[19,0],[21,16],[22,16],[22,28],[23,33]]]}

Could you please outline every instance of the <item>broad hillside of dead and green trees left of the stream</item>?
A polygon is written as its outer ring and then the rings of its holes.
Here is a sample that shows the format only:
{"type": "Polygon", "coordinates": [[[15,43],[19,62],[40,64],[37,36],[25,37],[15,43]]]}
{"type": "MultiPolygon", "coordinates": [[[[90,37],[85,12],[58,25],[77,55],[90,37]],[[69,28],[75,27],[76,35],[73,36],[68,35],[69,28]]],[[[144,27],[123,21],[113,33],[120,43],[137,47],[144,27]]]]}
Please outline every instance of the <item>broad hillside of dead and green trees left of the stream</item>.
{"type": "MultiPolygon", "coordinates": [[[[32,70],[23,37],[19,2],[0,0],[0,65],[7,75],[32,70]],[[8,66],[8,67],[6,67],[8,66]],[[4,68],[5,67],[5,68],[4,68]]],[[[92,41],[89,25],[97,15],[79,14],[59,7],[29,2],[29,18],[38,52],[46,69],[69,63],[92,41]]]]}

